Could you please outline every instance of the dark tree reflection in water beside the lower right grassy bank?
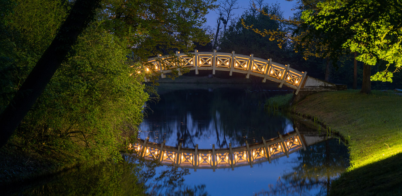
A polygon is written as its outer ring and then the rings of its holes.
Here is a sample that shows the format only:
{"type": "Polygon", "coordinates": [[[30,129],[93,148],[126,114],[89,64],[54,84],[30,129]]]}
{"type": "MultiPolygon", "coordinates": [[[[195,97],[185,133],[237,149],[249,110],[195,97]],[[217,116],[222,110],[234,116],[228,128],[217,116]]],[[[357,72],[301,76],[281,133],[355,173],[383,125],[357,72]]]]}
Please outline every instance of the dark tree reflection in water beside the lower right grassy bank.
{"type": "Polygon", "coordinates": [[[327,195],[331,181],[349,166],[347,147],[331,139],[299,151],[291,172],[282,175],[277,184],[255,195],[327,195]]]}

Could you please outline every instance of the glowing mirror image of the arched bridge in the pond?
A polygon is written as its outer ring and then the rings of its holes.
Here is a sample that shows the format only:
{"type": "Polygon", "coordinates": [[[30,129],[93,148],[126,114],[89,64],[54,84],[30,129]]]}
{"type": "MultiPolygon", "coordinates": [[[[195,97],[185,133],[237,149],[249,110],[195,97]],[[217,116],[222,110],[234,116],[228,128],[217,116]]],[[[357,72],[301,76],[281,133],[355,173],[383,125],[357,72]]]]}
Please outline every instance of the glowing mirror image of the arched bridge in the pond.
{"type": "Polygon", "coordinates": [[[138,139],[138,143],[130,144],[130,148],[135,150],[139,156],[146,159],[156,159],[162,165],[174,165],[183,168],[197,169],[212,169],[217,168],[232,168],[257,164],[260,162],[270,162],[274,159],[287,156],[298,150],[306,150],[306,144],[303,141],[297,128],[295,131],[281,135],[278,137],[265,140],[255,144],[248,144],[232,148],[229,143],[229,148],[215,149],[198,149],[198,144],[195,149],[181,148],[181,143],[177,148],[172,146],[149,142],[138,139]]]}

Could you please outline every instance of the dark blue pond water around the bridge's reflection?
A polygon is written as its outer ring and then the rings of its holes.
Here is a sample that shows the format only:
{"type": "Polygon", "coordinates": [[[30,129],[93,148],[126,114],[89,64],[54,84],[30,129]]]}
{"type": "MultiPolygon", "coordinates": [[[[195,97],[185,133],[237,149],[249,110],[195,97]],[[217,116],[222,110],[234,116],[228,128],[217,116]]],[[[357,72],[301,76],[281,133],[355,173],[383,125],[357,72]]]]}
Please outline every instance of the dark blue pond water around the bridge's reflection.
{"type": "MultiPolygon", "coordinates": [[[[71,170],[11,189],[16,195],[326,195],[349,166],[347,148],[288,115],[267,112],[268,97],[282,89],[239,85],[161,84],[160,101],[149,103],[139,125],[141,139],[178,148],[233,148],[293,134],[306,150],[250,165],[197,169],[160,165],[125,155],[125,163],[71,170]],[[232,86],[232,87],[229,87],[232,86]],[[234,88],[233,86],[237,86],[234,88]],[[301,138],[301,137],[298,137],[301,138]]],[[[324,132],[324,131],[322,131],[324,132]]],[[[326,131],[325,131],[326,133],[326,131]]]]}

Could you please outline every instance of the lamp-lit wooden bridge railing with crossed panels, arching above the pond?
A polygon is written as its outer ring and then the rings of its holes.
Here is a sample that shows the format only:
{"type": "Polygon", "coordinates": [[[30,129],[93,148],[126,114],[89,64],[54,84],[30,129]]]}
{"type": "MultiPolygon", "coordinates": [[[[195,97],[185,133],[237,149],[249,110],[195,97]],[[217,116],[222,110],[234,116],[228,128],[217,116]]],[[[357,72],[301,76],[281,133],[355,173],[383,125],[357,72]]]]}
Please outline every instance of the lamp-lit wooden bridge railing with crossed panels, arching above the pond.
{"type": "MultiPolygon", "coordinates": [[[[246,78],[250,75],[263,78],[263,82],[267,79],[279,83],[279,87],[286,85],[293,89],[296,89],[295,94],[299,92],[303,80],[306,78],[307,72],[300,72],[290,68],[290,65],[281,65],[271,61],[272,59],[259,59],[254,57],[253,54],[238,55],[234,51],[232,53],[217,53],[213,52],[198,52],[189,54],[180,54],[176,51],[175,56],[166,55],[154,57],[148,59],[148,63],[145,65],[146,70],[154,69],[160,72],[162,78],[166,73],[170,73],[172,69],[178,69],[176,64],[178,61],[174,61],[179,57],[180,67],[189,68],[195,70],[195,74],[198,74],[199,70],[212,70],[215,74],[215,70],[229,71],[229,75],[232,72],[246,73],[246,78]],[[176,63],[175,63],[176,62],[176,63]]],[[[179,75],[180,69],[178,69],[179,75]]],[[[148,81],[145,78],[145,81],[148,81]]]]}

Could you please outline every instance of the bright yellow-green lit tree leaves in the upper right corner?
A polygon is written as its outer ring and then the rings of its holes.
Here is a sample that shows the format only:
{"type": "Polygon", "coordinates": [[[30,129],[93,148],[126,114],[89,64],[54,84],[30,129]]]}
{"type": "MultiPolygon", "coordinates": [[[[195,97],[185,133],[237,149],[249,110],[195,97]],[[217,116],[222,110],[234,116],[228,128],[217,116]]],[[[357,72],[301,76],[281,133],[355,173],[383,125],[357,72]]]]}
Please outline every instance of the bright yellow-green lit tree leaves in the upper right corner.
{"type": "Polygon", "coordinates": [[[323,44],[331,48],[326,53],[338,59],[347,48],[358,52],[358,61],[376,65],[379,60],[388,62],[385,71],[377,73],[371,80],[390,81],[390,65],[397,72],[402,66],[402,3],[400,1],[342,0],[324,1],[317,4],[318,9],[306,10],[302,19],[304,28],[312,34],[324,35],[323,44]]]}

